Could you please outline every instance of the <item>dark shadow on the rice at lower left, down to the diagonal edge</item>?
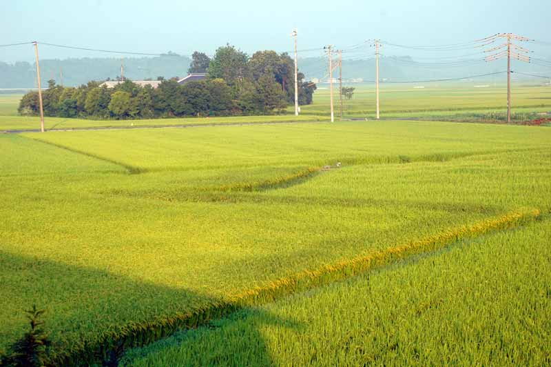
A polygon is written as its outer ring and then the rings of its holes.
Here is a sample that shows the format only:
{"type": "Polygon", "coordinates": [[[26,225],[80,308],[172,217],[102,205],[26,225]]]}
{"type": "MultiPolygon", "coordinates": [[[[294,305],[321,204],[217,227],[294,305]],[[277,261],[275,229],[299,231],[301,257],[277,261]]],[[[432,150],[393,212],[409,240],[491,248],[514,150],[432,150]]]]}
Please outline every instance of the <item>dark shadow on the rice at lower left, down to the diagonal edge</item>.
{"type": "MultiPolygon", "coordinates": [[[[8,252],[0,252],[0,269],[0,288],[12,295],[3,307],[0,350],[23,335],[27,325],[23,310],[37,304],[46,310],[45,330],[53,341],[47,366],[117,366],[129,348],[146,346],[180,330],[218,328],[212,320],[249,309],[185,288],[8,252]]],[[[271,315],[264,318],[270,324],[297,326],[271,315]]],[[[240,353],[250,348],[250,353],[271,364],[262,336],[255,330],[241,343],[220,346],[228,361],[233,348],[240,353]]],[[[211,357],[222,361],[220,355],[211,357]]]]}

